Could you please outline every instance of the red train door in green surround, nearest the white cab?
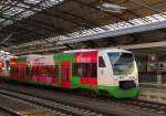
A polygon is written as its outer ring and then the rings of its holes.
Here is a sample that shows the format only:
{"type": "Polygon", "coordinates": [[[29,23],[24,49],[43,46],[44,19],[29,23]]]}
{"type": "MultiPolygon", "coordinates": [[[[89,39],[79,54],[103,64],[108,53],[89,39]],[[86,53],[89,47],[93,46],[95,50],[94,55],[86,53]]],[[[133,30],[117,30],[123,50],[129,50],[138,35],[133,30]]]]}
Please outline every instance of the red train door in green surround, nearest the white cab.
{"type": "Polygon", "coordinates": [[[69,88],[70,87],[70,78],[71,78],[71,63],[68,61],[61,62],[61,87],[69,88]]]}

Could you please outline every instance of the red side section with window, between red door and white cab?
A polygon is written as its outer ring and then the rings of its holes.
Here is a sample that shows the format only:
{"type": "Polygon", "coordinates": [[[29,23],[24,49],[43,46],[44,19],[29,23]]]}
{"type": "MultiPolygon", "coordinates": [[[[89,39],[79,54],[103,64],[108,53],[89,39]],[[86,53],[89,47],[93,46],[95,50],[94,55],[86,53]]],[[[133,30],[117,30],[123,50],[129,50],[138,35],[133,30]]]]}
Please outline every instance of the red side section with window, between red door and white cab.
{"type": "MultiPolygon", "coordinates": [[[[73,78],[79,87],[95,89],[97,86],[97,51],[74,53],[73,78]]],[[[74,82],[72,82],[74,83],[74,82]]]]}

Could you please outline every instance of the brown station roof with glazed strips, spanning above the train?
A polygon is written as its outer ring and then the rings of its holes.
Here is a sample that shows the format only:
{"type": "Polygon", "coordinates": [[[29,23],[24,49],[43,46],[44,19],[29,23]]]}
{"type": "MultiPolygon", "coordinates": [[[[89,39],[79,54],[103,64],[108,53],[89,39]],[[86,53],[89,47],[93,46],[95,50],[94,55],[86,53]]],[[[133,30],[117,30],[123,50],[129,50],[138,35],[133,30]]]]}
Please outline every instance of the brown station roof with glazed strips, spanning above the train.
{"type": "Polygon", "coordinates": [[[48,39],[65,40],[163,21],[165,12],[166,0],[1,0],[0,45],[8,52],[27,54],[162,41],[165,29],[76,44],[55,45],[56,41],[48,39]],[[112,6],[111,11],[102,8],[104,3],[112,6]]]}

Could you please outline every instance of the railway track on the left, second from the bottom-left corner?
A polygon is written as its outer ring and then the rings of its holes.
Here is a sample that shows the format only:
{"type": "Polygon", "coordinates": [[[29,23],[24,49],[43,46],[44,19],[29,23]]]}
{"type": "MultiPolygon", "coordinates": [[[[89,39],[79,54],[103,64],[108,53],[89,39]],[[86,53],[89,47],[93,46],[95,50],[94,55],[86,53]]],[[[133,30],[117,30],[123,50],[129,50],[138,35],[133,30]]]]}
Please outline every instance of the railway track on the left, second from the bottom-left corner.
{"type": "Polygon", "coordinates": [[[105,116],[104,114],[94,110],[61,104],[46,98],[37,97],[21,92],[13,92],[6,88],[0,88],[0,95],[27,102],[34,106],[44,107],[45,109],[53,112],[55,116],[105,116]]]}

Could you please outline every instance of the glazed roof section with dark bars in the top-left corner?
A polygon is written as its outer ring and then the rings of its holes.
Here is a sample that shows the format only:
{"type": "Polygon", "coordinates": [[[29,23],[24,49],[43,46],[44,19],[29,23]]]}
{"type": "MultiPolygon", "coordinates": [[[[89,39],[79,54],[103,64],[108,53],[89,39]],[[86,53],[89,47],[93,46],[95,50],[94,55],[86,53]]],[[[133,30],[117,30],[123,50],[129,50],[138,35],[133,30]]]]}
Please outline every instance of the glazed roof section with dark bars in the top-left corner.
{"type": "Polygon", "coordinates": [[[64,0],[3,0],[0,2],[0,24],[2,27],[14,23],[17,20],[28,18],[34,14],[34,11],[41,11],[56,6],[64,0]],[[1,21],[3,19],[3,21],[1,21]]]}

